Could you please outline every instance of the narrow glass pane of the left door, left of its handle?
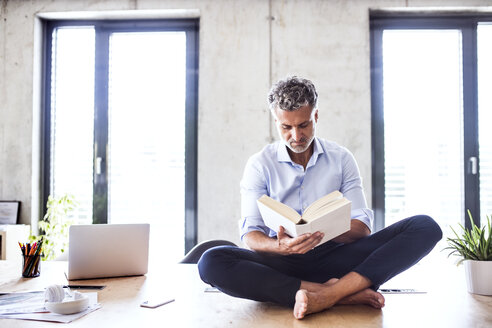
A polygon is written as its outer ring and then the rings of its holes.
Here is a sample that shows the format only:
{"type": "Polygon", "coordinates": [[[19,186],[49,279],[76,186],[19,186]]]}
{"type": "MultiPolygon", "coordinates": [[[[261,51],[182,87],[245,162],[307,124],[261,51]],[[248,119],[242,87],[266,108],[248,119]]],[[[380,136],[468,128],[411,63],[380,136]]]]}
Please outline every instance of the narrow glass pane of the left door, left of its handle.
{"type": "Polygon", "coordinates": [[[51,83],[51,194],[79,203],[76,223],[92,223],[94,29],[53,32],[51,83]]]}

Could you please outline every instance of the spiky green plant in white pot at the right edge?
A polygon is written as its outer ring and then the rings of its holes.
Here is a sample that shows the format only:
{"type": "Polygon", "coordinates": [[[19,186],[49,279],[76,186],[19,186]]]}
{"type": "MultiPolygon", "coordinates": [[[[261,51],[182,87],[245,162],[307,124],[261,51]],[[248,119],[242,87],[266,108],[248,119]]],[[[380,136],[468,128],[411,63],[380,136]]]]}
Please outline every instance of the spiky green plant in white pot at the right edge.
{"type": "Polygon", "coordinates": [[[479,228],[468,210],[471,229],[463,225],[461,234],[451,227],[456,238],[447,238],[450,255],[460,256],[458,265],[464,263],[468,291],[480,295],[492,295],[492,222],[487,215],[487,225],[479,228]]]}

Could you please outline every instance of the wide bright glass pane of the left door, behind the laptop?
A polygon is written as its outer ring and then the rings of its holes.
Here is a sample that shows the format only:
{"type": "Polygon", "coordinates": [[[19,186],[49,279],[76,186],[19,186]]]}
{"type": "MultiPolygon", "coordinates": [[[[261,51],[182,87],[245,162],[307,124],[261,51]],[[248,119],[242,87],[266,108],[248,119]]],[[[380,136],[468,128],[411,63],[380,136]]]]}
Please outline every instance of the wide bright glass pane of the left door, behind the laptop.
{"type": "Polygon", "coordinates": [[[112,34],[108,221],[149,222],[161,261],[184,255],[185,74],[184,32],[112,34]]]}

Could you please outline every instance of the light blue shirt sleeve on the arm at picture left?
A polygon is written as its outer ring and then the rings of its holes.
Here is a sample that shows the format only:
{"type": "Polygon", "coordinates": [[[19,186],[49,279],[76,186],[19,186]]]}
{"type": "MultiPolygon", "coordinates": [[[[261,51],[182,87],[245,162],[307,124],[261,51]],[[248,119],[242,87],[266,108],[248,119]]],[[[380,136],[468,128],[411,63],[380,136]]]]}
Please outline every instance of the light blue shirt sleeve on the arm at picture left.
{"type": "Polygon", "coordinates": [[[244,235],[251,231],[261,231],[267,236],[274,235],[263,222],[256,200],[262,195],[267,194],[267,184],[261,168],[252,157],[246,163],[243,178],[241,180],[241,219],[239,220],[239,230],[241,240],[244,235]]]}

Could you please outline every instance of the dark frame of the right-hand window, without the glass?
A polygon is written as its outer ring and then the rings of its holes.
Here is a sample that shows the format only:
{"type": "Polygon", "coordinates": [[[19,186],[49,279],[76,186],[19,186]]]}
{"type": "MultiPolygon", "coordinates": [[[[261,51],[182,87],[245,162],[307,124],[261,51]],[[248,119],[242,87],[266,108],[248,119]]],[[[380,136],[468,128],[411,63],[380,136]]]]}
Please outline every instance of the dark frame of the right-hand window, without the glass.
{"type": "Polygon", "coordinates": [[[478,131],[478,71],[477,26],[492,22],[492,14],[469,13],[398,13],[374,10],[370,12],[370,64],[371,64],[371,146],[372,146],[372,206],[375,230],[385,226],[385,175],[384,175],[384,108],[382,35],[388,29],[457,29],[462,33],[463,76],[463,168],[464,212],[462,222],[470,229],[467,209],[480,225],[480,172],[469,173],[469,159],[479,157],[478,131]]]}

